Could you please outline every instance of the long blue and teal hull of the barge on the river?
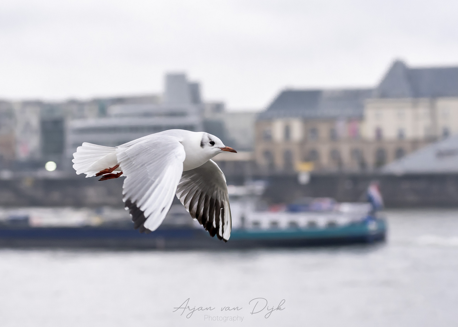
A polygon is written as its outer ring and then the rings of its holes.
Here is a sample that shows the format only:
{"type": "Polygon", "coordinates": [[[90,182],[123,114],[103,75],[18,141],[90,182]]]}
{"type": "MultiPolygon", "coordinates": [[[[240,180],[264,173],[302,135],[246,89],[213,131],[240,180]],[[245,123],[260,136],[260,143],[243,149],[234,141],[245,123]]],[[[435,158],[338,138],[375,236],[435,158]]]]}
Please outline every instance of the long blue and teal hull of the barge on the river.
{"type": "Polygon", "coordinates": [[[372,243],[385,240],[384,219],[370,219],[344,226],[308,229],[235,229],[223,242],[203,229],[163,227],[150,234],[134,229],[82,228],[0,228],[1,247],[111,248],[111,249],[249,249],[372,243]]]}

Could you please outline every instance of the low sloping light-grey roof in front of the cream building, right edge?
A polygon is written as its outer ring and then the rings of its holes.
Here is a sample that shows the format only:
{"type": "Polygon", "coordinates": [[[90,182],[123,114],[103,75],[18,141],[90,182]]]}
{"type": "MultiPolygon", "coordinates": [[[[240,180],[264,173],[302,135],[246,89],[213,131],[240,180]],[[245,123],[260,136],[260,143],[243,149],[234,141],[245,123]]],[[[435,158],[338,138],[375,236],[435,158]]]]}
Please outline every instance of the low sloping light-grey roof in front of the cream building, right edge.
{"type": "Polygon", "coordinates": [[[423,147],[382,168],[387,174],[458,173],[458,135],[423,147]]]}

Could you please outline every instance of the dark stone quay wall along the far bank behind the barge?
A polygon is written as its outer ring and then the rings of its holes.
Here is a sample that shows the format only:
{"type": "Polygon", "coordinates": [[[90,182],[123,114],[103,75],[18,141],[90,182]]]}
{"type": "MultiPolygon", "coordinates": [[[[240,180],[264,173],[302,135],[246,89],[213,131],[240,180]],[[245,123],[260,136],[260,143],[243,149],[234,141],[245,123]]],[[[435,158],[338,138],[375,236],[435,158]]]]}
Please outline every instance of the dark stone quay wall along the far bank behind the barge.
{"type": "MultiPolygon", "coordinates": [[[[293,175],[252,176],[261,178],[267,180],[263,198],[269,203],[292,202],[303,196],[364,201],[367,186],[377,180],[387,207],[458,207],[458,174],[312,174],[306,185],[300,185],[293,175]]],[[[0,180],[0,206],[122,207],[123,180],[98,181],[81,175],[0,180]]],[[[240,179],[228,176],[231,183],[238,184],[240,179]]]]}

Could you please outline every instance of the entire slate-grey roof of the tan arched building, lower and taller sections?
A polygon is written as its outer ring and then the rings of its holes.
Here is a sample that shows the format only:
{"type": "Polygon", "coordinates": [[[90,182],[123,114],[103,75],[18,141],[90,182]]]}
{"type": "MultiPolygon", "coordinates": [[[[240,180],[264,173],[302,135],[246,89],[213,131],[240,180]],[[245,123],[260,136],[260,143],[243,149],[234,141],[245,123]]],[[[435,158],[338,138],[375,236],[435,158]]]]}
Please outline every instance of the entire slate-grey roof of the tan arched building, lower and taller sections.
{"type": "Polygon", "coordinates": [[[409,68],[397,60],[375,90],[284,90],[258,119],[362,118],[367,98],[435,97],[458,97],[458,67],[409,68]]]}

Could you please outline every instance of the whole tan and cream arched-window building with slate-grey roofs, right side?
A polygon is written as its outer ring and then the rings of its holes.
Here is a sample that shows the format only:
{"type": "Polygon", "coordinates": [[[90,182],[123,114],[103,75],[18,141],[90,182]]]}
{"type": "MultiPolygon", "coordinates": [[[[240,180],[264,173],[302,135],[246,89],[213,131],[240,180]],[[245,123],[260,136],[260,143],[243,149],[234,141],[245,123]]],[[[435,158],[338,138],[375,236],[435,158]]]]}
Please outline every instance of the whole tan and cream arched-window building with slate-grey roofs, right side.
{"type": "Polygon", "coordinates": [[[458,133],[458,67],[393,63],[375,89],[285,90],[256,121],[264,172],[377,169],[458,133]]]}

